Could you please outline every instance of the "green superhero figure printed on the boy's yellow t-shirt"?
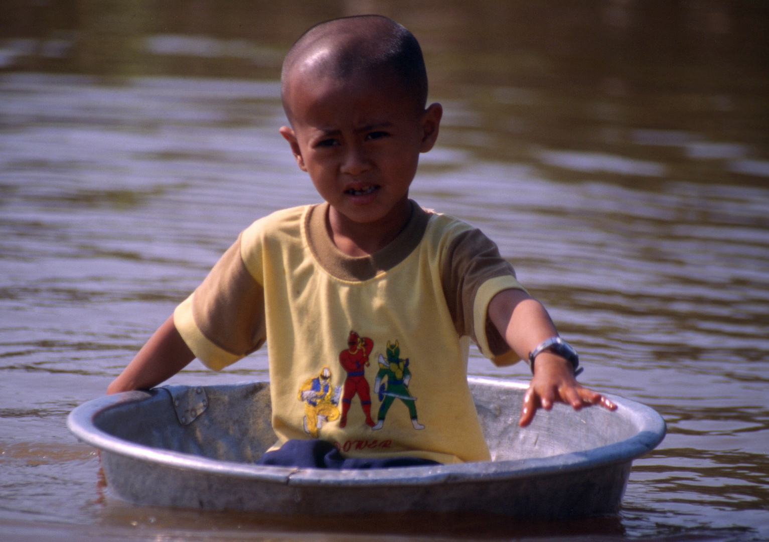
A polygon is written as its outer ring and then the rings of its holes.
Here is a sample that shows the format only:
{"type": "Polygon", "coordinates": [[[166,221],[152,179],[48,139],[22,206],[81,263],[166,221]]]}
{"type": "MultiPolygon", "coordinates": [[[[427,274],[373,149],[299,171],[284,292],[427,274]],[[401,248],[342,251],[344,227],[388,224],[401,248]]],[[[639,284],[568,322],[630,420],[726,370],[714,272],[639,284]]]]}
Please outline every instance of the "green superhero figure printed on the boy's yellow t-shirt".
{"type": "Polygon", "coordinates": [[[387,361],[384,360],[384,356],[379,354],[379,372],[377,373],[376,380],[374,381],[374,393],[379,394],[379,406],[378,421],[374,427],[371,427],[372,431],[381,429],[384,426],[384,417],[387,416],[387,411],[390,409],[392,402],[396,399],[403,401],[403,404],[408,407],[408,414],[411,415],[411,424],[414,429],[424,429],[424,425],[420,424],[417,420],[417,406],[414,404],[417,401],[416,397],[411,397],[408,392],[408,381],[411,380],[411,371],[408,370],[408,357],[401,359],[401,348],[398,347],[398,341],[395,344],[387,343],[387,361]],[[384,381],[387,381],[386,384],[384,381]]]}

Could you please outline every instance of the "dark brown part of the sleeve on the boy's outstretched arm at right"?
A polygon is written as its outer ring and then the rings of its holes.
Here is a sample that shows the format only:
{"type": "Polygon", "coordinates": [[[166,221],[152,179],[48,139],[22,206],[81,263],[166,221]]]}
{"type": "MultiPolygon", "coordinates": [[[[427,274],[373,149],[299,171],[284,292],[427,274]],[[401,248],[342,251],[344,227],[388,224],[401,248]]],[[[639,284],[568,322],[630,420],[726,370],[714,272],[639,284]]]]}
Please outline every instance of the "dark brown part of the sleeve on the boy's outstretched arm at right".
{"type": "MultiPolygon", "coordinates": [[[[441,281],[448,310],[460,337],[467,335],[478,344],[474,324],[475,294],[484,282],[504,276],[515,278],[513,266],[501,257],[497,245],[481,230],[471,228],[462,231],[448,244],[442,262],[441,281]]],[[[491,354],[496,357],[510,351],[488,315],[485,331],[491,354]]]]}

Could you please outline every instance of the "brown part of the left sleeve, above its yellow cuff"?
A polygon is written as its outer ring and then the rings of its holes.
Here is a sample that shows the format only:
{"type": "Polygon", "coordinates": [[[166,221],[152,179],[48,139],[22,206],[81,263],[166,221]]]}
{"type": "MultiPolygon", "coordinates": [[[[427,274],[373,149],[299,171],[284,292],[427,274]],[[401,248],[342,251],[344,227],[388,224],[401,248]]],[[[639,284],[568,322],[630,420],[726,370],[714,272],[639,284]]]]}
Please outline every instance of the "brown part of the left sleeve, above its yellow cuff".
{"type": "Polygon", "coordinates": [[[192,317],[208,341],[243,357],[265,342],[265,294],[241,258],[238,237],[195,293],[192,317]]]}

